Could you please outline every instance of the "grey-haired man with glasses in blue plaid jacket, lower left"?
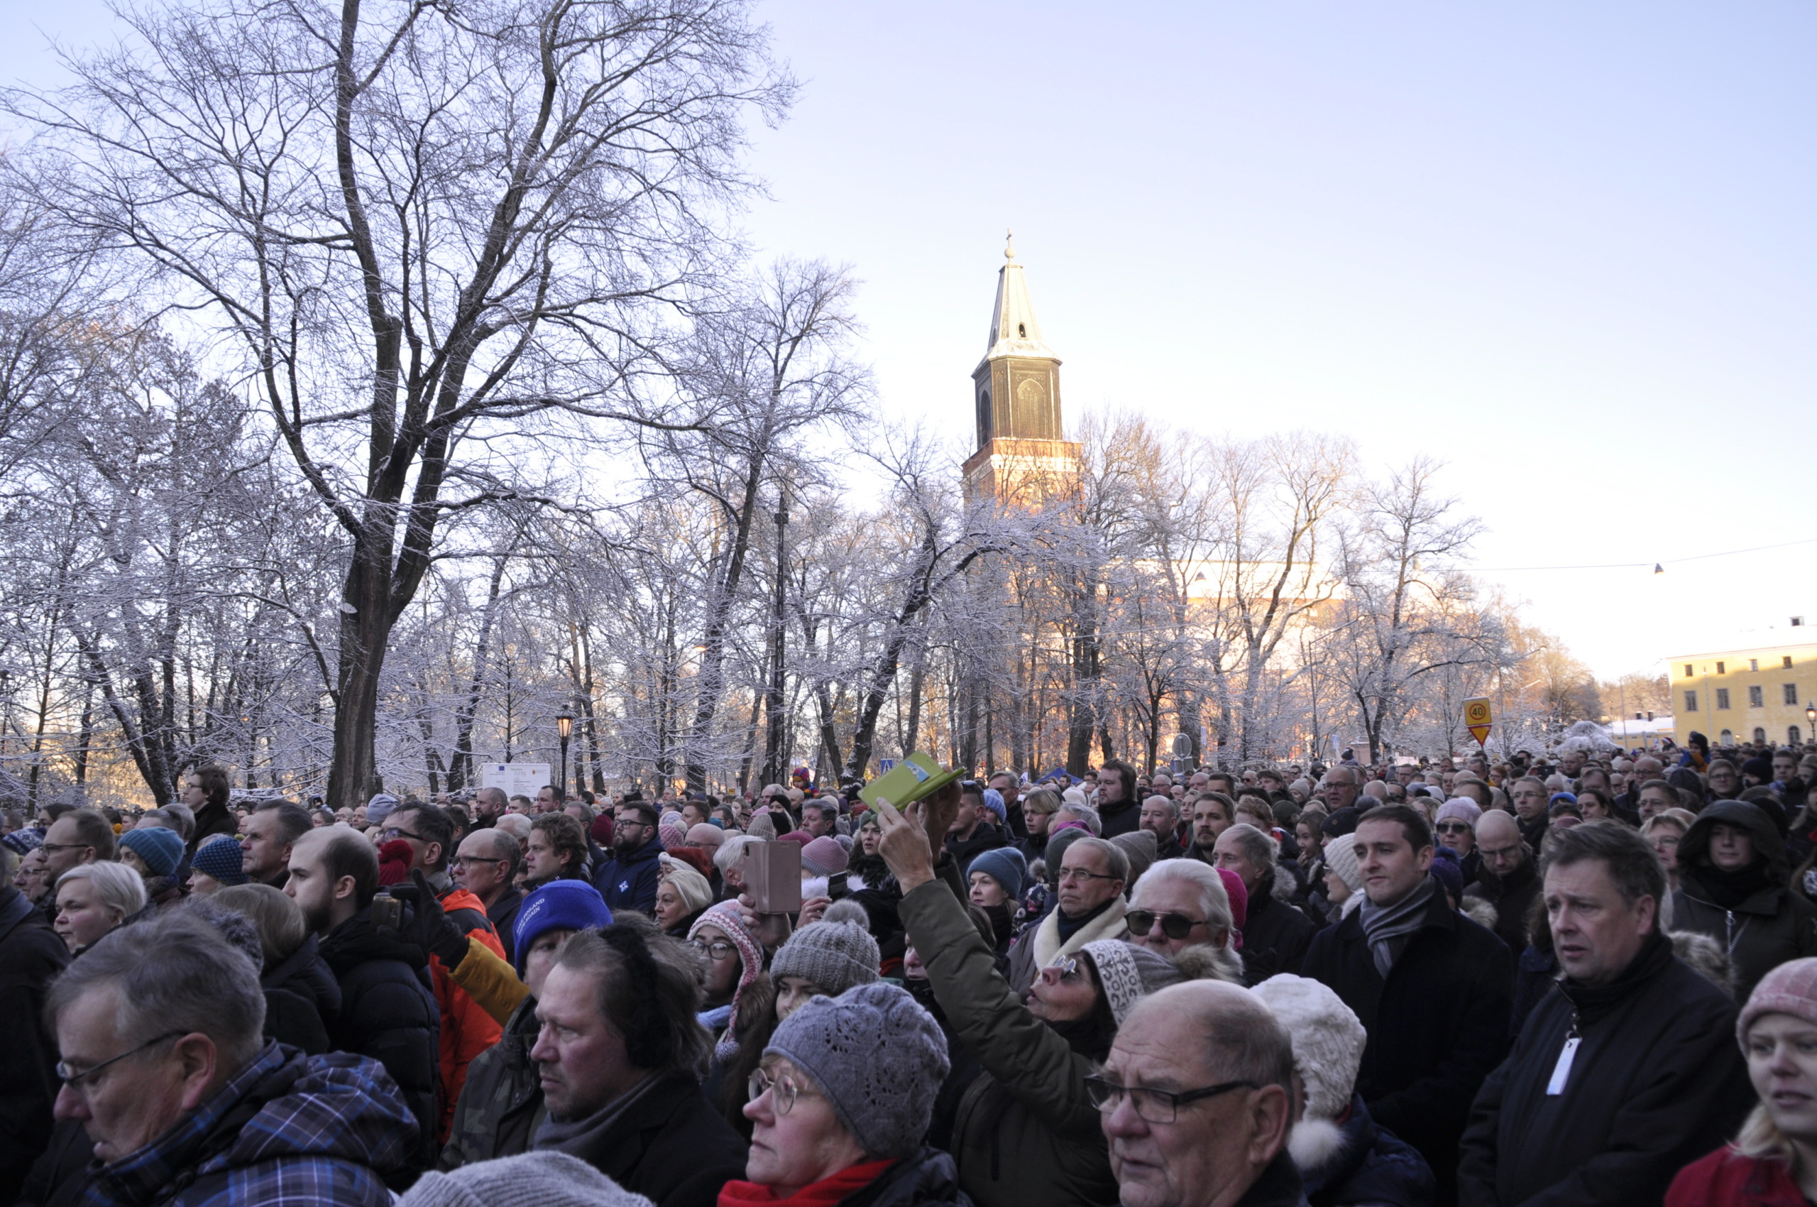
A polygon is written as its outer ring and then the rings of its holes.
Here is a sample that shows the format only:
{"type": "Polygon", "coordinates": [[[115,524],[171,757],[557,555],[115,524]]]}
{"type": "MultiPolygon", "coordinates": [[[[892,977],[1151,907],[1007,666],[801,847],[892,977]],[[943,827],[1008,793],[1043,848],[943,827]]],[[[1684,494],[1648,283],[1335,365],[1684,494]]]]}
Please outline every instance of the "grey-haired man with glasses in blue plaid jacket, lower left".
{"type": "Polygon", "coordinates": [[[265,1040],[258,969],[185,911],[94,943],[47,1012],[56,1118],[93,1143],[93,1202],[392,1202],[416,1140],[396,1085],[374,1060],[265,1040]]]}

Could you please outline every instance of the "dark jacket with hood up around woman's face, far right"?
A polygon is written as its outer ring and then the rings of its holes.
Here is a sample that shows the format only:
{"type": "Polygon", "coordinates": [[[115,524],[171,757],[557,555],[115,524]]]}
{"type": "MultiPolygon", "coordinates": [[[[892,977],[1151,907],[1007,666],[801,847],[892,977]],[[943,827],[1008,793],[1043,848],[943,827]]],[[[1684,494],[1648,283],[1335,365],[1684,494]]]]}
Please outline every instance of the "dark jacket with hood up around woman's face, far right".
{"type": "Polygon", "coordinates": [[[1817,905],[1792,893],[1786,843],[1764,813],[1739,800],[1706,807],[1679,842],[1679,891],[1672,929],[1723,943],[1735,969],[1735,1000],[1746,1002],[1762,976],[1801,956],[1817,956],[1817,905]],[[1753,834],[1753,863],[1723,873],[1710,863],[1717,823],[1753,834]]]}

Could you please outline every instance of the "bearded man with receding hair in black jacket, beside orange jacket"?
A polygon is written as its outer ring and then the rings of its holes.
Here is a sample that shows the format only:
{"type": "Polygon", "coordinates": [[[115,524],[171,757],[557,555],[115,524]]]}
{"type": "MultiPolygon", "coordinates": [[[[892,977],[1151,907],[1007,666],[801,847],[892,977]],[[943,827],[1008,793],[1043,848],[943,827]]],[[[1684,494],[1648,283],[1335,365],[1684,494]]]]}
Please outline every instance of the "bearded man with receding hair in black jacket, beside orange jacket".
{"type": "Polygon", "coordinates": [[[349,829],[311,831],[291,847],[283,891],[302,905],[340,983],[340,1011],[329,1025],[333,1051],[385,1065],[420,1129],[411,1169],[429,1169],[442,1122],[436,1102],[442,1012],[423,949],[372,922],[378,853],[349,829]]]}

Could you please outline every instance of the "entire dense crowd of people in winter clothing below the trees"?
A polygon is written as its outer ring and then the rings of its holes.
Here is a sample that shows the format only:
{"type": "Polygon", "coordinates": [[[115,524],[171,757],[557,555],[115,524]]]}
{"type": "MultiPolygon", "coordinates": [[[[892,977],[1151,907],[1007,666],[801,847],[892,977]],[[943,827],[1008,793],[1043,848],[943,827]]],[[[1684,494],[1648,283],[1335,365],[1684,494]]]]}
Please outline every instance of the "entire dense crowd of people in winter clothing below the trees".
{"type": "Polygon", "coordinates": [[[0,1202],[1817,1202],[1817,747],[859,787],[4,811],[0,1202]]]}

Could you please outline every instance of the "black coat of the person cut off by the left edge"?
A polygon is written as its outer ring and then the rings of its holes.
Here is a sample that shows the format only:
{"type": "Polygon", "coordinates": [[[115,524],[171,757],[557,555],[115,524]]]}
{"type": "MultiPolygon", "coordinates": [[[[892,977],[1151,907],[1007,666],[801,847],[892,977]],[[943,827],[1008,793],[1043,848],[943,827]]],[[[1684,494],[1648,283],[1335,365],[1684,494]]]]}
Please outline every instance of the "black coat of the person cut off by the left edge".
{"type": "Polygon", "coordinates": [[[44,991],[69,965],[69,949],[44,914],[13,885],[0,885],[0,1018],[7,1054],[0,1060],[0,1203],[51,1142],[56,1102],[56,1038],[44,1027],[44,991]]]}

